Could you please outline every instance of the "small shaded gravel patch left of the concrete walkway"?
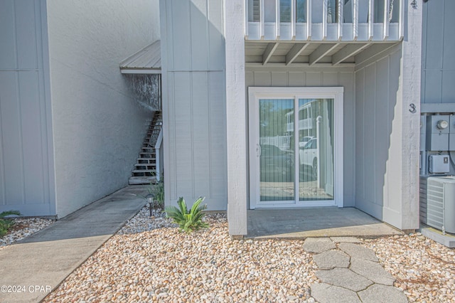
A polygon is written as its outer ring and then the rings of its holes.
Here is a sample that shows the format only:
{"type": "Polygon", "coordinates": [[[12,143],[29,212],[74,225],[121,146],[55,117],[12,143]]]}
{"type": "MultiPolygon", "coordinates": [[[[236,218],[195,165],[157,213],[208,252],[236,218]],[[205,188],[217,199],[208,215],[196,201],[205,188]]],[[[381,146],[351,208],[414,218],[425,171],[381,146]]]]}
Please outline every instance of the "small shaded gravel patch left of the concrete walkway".
{"type": "Polygon", "coordinates": [[[55,220],[41,218],[17,218],[14,219],[14,226],[8,230],[8,233],[0,238],[0,250],[7,245],[11,245],[18,240],[33,235],[39,230],[52,224],[55,220]]]}

